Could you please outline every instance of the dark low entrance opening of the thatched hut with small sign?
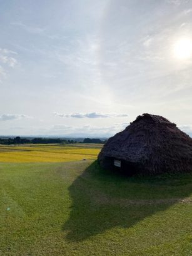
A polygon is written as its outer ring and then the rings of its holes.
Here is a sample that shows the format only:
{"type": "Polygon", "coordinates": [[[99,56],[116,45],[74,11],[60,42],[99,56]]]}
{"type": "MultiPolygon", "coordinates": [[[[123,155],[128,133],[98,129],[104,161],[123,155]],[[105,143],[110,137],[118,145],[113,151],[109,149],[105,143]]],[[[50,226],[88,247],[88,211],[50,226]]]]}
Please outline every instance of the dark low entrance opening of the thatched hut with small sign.
{"type": "Polygon", "coordinates": [[[131,161],[125,161],[119,158],[114,158],[110,156],[105,156],[104,158],[104,168],[108,170],[120,171],[126,173],[126,175],[134,175],[138,173],[136,165],[131,161]]]}

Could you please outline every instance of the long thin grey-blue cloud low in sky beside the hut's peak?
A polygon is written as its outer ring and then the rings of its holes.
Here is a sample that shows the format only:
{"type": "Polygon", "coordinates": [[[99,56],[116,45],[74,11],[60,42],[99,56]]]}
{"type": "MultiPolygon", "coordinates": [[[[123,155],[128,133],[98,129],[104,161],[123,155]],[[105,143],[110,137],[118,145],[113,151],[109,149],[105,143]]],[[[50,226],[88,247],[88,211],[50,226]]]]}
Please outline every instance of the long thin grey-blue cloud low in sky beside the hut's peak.
{"type": "Polygon", "coordinates": [[[54,116],[59,116],[61,118],[111,118],[111,117],[126,117],[127,114],[104,114],[104,113],[72,113],[72,114],[61,114],[54,113],[54,116]]]}

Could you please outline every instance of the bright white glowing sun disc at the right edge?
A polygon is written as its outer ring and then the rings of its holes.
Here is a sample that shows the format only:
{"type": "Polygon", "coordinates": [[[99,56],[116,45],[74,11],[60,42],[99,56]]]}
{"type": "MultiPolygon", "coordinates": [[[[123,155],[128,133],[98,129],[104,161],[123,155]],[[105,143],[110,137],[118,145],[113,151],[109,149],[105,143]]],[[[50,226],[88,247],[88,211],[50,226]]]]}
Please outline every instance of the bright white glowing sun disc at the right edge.
{"type": "Polygon", "coordinates": [[[192,56],[192,40],[183,38],[174,43],[174,56],[178,59],[189,59],[192,56]]]}

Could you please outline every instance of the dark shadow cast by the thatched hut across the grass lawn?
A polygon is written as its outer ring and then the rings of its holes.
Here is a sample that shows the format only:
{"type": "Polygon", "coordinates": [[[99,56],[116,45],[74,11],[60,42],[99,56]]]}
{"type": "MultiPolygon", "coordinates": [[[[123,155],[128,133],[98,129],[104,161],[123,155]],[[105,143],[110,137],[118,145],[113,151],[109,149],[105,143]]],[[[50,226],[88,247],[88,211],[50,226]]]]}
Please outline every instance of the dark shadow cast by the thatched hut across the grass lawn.
{"type": "Polygon", "coordinates": [[[69,187],[73,206],[66,238],[82,241],[114,227],[130,228],[192,193],[192,174],[125,177],[92,163],[69,187]]]}

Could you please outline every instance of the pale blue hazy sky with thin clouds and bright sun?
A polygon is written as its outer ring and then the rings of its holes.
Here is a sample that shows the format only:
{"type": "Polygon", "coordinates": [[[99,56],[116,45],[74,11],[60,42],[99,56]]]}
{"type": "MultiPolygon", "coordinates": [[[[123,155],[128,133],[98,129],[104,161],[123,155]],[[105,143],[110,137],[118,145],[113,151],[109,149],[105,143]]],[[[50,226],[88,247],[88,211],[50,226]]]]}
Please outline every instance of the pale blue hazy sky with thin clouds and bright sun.
{"type": "Polygon", "coordinates": [[[192,136],[191,0],[0,0],[0,135],[192,136]]]}

